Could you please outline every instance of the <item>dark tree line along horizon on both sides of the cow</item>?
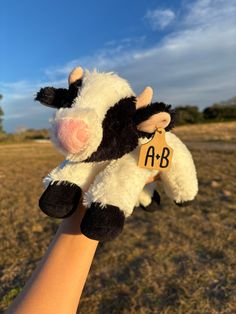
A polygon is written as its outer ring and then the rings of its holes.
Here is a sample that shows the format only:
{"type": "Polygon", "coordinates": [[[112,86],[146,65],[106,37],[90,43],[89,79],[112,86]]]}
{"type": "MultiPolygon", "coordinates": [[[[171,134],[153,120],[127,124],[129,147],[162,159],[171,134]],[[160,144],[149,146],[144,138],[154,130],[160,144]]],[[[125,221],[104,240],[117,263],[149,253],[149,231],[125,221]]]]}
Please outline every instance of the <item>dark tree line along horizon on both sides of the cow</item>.
{"type": "MultiPolygon", "coordinates": [[[[3,99],[0,94],[0,100],[3,99]]],[[[223,102],[214,103],[206,107],[202,111],[197,106],[185,105],[177,106],[176,125],[199,124],[211,122],[224,122],[236,120],[236,96],[223,102]]],[[[33,139],[48,139],[48,129],[27,129],[19,127],[14,134],[7,134],[3,128],[4,112],[0,106],[0,142],[4,140],[33,140],[33,139]]]]}

